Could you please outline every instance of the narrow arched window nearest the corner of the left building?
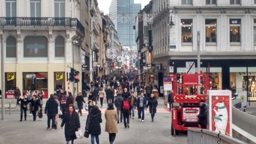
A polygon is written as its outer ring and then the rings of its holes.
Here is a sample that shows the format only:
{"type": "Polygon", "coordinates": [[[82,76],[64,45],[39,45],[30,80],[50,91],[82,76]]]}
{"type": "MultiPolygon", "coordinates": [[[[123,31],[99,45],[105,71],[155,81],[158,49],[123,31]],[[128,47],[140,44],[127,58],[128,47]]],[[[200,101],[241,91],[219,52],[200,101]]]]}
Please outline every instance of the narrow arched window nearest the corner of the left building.
{"type": "Polygon", "coordinates": [[[55,57],[65,57],[65,42],[61,36],[55,39],[55,57]]]}

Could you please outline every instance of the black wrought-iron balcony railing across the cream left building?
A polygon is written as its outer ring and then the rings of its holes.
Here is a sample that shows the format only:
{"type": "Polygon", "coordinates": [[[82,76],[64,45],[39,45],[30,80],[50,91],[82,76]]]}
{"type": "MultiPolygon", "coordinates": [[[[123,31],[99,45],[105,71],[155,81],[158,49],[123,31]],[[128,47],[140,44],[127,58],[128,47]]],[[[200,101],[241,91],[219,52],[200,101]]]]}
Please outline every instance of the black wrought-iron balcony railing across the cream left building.
{"type": "Polygon", "coordinates": [[[1,27],[76,27],[85,34],[84,27],[78,18],[29,18],[29,17],[0,17],[1,27]]]}

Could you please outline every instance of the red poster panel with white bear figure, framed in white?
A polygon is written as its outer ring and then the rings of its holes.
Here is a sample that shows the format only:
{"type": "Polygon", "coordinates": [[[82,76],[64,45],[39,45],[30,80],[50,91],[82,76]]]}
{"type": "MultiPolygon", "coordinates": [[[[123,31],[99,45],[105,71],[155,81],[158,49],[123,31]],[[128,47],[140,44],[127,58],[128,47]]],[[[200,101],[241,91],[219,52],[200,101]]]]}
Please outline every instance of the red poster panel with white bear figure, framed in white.
{"type": "Polygon", "coordinates": [[[209,129],[232,136],[232,93],[228,90],[210,90],[208,93],[209,129]]]}

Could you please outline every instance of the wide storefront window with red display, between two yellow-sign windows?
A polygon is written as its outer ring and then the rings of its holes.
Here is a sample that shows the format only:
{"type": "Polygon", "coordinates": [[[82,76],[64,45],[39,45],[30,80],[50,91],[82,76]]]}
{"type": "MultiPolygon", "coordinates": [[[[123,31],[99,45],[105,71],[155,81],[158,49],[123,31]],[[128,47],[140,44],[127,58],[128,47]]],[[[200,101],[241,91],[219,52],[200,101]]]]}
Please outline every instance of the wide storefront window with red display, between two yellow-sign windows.
{"type": "Polygon", "coordinates": [[[48,73],[23,72],[23,91],[43,91],[48,98],[48,73]]]}

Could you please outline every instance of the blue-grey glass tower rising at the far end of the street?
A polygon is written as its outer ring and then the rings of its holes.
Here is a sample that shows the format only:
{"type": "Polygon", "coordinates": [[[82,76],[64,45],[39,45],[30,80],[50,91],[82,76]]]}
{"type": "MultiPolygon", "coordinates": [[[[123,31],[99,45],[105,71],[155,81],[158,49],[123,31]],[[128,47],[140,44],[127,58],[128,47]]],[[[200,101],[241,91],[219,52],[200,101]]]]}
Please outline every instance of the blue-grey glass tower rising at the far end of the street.
{"type": "Polygon", "coordinates": [[[112,0],[109,8],[110,19],[116,26],[122,46],[135,46],[135,17],[140,12],[141,4],[134,0],[112,0]]]}

